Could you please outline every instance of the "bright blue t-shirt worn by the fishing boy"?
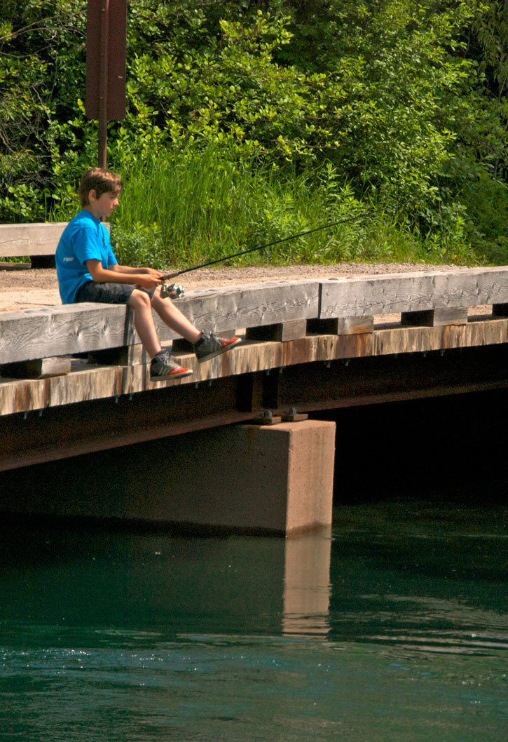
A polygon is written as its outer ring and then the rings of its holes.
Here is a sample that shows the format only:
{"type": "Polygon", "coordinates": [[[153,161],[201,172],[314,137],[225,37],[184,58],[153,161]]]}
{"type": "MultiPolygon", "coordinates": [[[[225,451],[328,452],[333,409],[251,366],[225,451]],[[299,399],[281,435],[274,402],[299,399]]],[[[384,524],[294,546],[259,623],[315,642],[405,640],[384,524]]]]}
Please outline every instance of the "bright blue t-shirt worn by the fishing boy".
{"type": "Polygon", "coordinates": [[[67,224],[56,248],[56,275],[62,304],[72,304],[79,287],[93,280],[87,260],[100,260],[105,269],[118,262],[111,249],[108,230],[90,211],[83,209],[67,224]]]}

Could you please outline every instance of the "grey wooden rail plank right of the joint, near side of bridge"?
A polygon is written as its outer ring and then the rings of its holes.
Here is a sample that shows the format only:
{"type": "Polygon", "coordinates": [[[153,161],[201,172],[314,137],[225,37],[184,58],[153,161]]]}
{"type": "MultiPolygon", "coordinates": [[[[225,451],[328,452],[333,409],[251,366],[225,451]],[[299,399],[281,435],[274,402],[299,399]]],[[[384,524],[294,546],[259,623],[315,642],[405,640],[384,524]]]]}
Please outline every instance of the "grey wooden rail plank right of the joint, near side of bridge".
{"type": "Polygon", "coordinates": [[[508,268],[352,276],[321,282],[320,318],[508,303],[508,268]]]}

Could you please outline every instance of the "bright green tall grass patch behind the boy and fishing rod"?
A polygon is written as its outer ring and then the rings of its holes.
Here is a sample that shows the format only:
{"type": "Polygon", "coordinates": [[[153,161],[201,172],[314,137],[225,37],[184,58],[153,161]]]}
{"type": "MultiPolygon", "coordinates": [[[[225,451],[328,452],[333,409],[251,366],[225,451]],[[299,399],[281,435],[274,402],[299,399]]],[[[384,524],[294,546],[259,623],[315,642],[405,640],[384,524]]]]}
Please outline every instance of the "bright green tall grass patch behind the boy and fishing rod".
{"type": "Polygon", "coordinates": [[[325,225],[231,264],[475,261],[460,229],[423,237],[393,206],[355,197],[331,164],[296,174],[208,149],[144,154],[119,169],[112,235],[125,264],[186,268],[325,225]]]}

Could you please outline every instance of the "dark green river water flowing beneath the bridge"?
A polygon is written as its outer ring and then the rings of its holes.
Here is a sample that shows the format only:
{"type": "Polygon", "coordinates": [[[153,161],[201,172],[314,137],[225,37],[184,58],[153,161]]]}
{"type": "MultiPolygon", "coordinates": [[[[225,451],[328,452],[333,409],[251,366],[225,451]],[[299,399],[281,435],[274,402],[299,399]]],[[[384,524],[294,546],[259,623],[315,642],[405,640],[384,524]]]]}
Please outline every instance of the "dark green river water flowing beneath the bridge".
{"type": "Polygon", "coordinates": [[[0,740],[504,742],[507,509],[295,539],[0,527],[0,740]]]}

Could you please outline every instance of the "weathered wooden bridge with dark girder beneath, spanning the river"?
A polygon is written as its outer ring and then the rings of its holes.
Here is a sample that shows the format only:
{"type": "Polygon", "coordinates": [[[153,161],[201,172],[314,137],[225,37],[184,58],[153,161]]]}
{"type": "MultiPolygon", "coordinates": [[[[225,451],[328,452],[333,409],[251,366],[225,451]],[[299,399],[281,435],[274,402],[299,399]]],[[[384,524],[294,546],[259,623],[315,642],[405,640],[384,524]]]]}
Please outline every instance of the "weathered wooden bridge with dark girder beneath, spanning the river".
{"type": "Polygon", "coordinates": [[[241,332],[245,342],[198,364],[158,324],[162,343],[194,370],[163,382],[150,381],[124,306],[2,312],[0,470],[231,424],[291,427],[316,410],[508,385],[508,268],[253,283],[177,301],[197,326],[241,332]]]}

